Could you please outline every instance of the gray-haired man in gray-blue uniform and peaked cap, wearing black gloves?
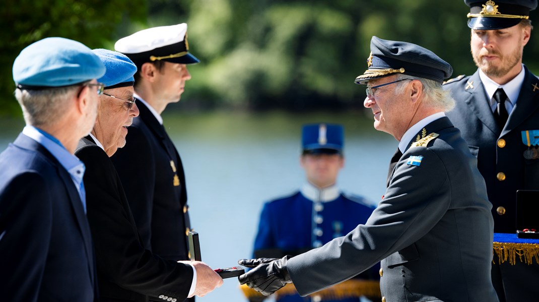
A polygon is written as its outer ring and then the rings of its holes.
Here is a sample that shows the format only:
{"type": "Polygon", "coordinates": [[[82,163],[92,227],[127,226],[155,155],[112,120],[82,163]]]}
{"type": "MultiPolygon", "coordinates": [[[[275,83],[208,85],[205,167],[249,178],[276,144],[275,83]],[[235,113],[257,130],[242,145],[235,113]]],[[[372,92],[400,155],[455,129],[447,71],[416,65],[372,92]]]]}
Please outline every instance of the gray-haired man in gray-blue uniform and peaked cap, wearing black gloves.
{"type": "Polygon", "coordinates": [[[263,294],[293,282],[301,295],[347,280],[381,260],[382,301],[497,301],[490,279],[492,205],[460,132],[444,111],[451,66],[418,45],[372,37],[364,106],[399,141],[388,187],[365,224],[321,248],[243,259],[239,277],[263,294]],[[257,266],[258,265],[258,266],[257,266]]]}

